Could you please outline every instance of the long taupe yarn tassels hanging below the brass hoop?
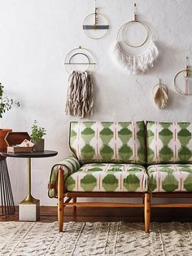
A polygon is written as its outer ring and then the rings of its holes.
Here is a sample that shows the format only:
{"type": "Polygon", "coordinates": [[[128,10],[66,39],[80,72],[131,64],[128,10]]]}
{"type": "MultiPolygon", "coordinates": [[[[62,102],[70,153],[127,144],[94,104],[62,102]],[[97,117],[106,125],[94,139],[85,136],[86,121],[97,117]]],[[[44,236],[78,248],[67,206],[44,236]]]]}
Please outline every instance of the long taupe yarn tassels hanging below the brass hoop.
{"type": "Polygon", "coordinates": [[[67,115],[88,117],[93,114],[93,82],[89,73],[73,71],[68,80],[67,115]]]}

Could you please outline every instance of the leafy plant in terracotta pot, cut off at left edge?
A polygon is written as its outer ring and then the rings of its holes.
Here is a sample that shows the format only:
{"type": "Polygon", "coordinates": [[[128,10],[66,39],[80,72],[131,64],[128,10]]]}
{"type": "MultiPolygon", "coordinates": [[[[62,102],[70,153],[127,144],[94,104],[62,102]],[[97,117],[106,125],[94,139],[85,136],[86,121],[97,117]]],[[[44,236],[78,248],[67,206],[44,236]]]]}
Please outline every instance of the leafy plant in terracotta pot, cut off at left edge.
{"type": "MultiPolygon", "coordinates": [[[[2,86],[2,84],[0,83],[0,119],[2,118],[2,115],[4,113],[11,110],[13,104],[15,104],[17,107],[20,107],[20,102],[3,96],[3,92],[4,86],[2,86]]],[[[5,141],[5,137],[7,133],[11,131],[11,129],[0,129],[0,152],[7,150],[7,143],[5,141]]]]}

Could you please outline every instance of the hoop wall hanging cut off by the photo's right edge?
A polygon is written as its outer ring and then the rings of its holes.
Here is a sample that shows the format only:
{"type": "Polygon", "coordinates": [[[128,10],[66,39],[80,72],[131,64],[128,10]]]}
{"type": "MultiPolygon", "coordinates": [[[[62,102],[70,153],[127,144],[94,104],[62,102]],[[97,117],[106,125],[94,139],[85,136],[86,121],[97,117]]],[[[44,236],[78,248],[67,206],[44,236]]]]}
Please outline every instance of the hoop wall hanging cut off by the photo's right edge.
{"type": "Polygon", "coordinates": [[[192,95],[192,86],[190,84],[189,58],[186,56],[186,67],[179,71],[174,77],[174,87],[177,93],[181,95],[192,95]]]}

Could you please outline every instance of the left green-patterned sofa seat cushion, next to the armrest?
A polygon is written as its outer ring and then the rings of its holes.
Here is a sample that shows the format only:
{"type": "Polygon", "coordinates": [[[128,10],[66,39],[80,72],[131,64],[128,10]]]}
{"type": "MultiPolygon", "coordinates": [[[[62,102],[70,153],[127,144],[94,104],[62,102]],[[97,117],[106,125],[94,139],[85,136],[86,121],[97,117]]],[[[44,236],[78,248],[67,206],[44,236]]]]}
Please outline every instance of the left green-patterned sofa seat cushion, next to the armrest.
{"type": "Polygon", "coordinates": [[[131,164],[86,164],[66,183],[71,192],[144,192],[146,187],[145,168],[131,164]]]}

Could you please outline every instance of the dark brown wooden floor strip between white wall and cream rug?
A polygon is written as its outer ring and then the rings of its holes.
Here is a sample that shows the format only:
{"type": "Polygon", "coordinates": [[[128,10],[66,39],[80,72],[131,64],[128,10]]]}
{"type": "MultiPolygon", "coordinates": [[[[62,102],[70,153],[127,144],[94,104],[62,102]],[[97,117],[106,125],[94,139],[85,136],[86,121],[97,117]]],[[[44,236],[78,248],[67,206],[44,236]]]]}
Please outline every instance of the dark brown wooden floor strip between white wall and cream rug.
{"type": "MultiPolygon", "coordinates": [[[[57,221],[57,208],[55,206],[41,206],[41,222],[57,221]]],[[[18,207],[15,214],[0,216],[0,221],[18,221],[18,207]]],[[[142,208],[77,208],[76,212],[72,207],[66,207],[64,211],[64,221],[75,222],[110,222],[110,221],[127,221],[143,222],[142,208]]],[[[192,209],[181,208],[162,208],[151,210],[152,222],[191,222],[192,209]]]]}

